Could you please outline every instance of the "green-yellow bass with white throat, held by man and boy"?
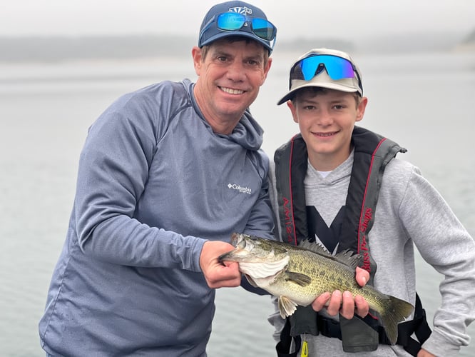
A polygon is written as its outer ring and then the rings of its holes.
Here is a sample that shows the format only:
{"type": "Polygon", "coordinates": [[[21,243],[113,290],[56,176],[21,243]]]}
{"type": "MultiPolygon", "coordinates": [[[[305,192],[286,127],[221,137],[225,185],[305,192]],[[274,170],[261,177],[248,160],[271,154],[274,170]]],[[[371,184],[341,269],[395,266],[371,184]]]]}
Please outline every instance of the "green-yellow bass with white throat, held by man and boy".
{"type": "Polygon", "coordinates": [[[322,293],[349,291],[362,296],[371,312],[379,318],[387,338],[397,341],[397,324],[404,321],[414,306],[400,298],[384,294],[372,286],[359,286],[355,269],[362,256],[350,250],[327,253],[315,242],[301,241],[299,246],[267,238],[233,233],[235,247],[218,261],[236,261],[252,286],[277,297],[282,318],[291,316],[297,306],[310,305],[322,293]]]}

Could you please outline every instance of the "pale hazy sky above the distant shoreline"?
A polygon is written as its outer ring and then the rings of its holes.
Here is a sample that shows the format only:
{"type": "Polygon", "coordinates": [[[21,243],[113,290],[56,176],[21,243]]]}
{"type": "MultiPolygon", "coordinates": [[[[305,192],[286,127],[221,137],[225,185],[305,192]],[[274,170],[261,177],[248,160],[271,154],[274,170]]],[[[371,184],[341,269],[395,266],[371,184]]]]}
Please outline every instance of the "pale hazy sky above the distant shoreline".
{"type": "MultiPolygon", "coordinates": [[[[198,36],[206,11],[219,0],[7,0],[0,36],[160,34],[198,36]]],[[[354,39],[400,32],[469,33],[475,0],[255,0],[277,26],[277,39],[354,39]]]]}

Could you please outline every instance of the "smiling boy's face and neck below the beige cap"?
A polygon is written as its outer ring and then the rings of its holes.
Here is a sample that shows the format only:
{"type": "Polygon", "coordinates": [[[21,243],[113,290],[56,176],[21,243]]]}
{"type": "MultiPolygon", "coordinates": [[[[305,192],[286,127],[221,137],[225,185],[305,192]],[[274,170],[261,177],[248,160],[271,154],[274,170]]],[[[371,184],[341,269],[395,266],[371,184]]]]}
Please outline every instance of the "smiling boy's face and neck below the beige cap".
{"type": "Polygon", "coordinates": [[[354,123],[363,119],[367,98],[333,89],[302,89],[287,101],[307,144],[312,166],[332,171],[349,156],[354,123]]]}

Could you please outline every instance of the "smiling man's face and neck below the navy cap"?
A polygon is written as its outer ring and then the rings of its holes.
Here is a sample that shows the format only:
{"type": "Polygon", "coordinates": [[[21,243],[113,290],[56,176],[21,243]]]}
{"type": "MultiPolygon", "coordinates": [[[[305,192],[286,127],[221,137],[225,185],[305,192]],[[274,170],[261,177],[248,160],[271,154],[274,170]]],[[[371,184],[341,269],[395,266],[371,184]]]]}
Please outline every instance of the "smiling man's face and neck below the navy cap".
{"type": "Polygon", "coordinates": [[[215,124],[232,131],[245,109],[255,101],[270,69],[271,60],[266,61],[266,54],[262,45],[245,40],[215,41],[205,58],[201,49],[193,49],[199,76],[195,98],[215,131],[223,132],[215,124]]]}

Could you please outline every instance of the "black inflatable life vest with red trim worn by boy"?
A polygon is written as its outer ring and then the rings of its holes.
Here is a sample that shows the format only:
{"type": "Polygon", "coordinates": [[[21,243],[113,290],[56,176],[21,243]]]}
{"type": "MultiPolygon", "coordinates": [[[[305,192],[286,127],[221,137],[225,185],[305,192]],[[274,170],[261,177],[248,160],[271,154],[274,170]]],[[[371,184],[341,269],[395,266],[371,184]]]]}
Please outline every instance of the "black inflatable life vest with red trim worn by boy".
{"type": "MultiPolygon", "coordinates": [[[[404,153],[407,150],[394,141],[359,126],[354,127],[352,145],[354,146],[354,164],[349,180],[337,251],[350,249],[354,253],[362,255],[362,268],[369,272],[370,280],[368,283],[372,285],[377,264],[372,260],[369,253],[368,233],[374,223],[374,211],[382,176],[389,161],[394,159],[397,153],[404,153]]],[[[297,134],[277,149],[274,161],[282,241],[298,245],[302,239],[309,237],[305,187],[303,184],[307,173],[307,147],[302,136],[297,134]]],[[[414,320],[399,324],[397,341],[413,356],[417,355],[421,343],[431,333],[419,296],[417,296],[416,305],[414,320]],[[410,337],[414,331],[417,333],[418,329],[423,331],[420,333],[421,336],[417,335],[421,343],[410,337]]],[[[300,341],[298,340],[303,333],[313,335],[322,333],[324,336],[340,338],[344,350],[348,352],[374,351],[378,343],[389,343],[384,330],[381,326],[378,326],[377,321],[371,316],[367,316],[362,320],[355,316],[352,320],[342,322],[340,317],[340,322],[338,322],[320,316],[312,310],[311,306],[306,308],[299,306],[297,311],[290,318],[287,318],[281,341],[277,344],[277,354],[279,356],[294,356],[284,351],[288,351],[287,344],[290,347],[290,336],[295,336],[295,344],[300,348],[300,341]],[[363,325],[362,320],[364,321],[363,325]],[[372,329],[362,332],[367,325],[371,326],[372,329]],[[351,332],[344,333],[344,331],[351,332]],[[357,333],[366,333],[366,335],[362,336],[363,338],[359,338],[360,336],[352,338],[352,335],[357,333]],[[367,333],[373,335],[372,339],[368,338],[367,333]],[[349,337],[345,338],[345,336],[349,337]],[[350,340],[354,341],[354,345],[350,340]],[[366,345],[364,343],[362,345],[361,341],[368,342],[366,345]]]]}

